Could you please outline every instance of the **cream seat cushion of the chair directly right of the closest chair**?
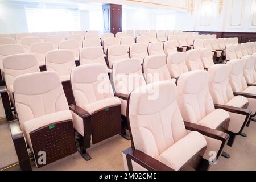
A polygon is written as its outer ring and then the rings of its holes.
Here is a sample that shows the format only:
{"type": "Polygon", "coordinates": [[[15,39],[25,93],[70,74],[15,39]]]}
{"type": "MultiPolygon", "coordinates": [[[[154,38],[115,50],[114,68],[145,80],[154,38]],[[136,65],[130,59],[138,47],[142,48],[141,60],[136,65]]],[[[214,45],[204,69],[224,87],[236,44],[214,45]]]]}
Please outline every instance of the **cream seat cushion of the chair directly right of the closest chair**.
{"type": "Polygon", "coordinates": [[[229,113],[223,109],[216,109],[212,113],[201,119],[198,124],[209,127],[210,129],[217,129],[226,119],[229,118],[229,113]]]}

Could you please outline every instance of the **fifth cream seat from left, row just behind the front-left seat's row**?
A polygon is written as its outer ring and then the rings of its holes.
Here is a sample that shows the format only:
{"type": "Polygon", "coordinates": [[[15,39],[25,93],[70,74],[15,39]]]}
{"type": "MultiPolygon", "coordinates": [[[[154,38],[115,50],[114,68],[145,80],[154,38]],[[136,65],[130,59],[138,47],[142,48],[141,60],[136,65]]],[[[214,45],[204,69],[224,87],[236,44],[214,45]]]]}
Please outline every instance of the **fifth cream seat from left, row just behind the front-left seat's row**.
{"type": "Polygon", "coordinates": [[[130,46],[130,57],[134,59],[138,59],[143,63],[145,57],[148,56],[146,43],[134,43],[130,46]]]}

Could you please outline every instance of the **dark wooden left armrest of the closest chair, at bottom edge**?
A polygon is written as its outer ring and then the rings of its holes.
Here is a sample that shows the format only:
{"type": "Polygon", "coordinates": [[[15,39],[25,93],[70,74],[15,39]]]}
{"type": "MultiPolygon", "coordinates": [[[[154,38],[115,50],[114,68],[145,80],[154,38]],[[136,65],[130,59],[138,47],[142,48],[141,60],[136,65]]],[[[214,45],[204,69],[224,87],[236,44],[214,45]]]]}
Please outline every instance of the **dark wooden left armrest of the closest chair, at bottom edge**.
{"type": "Polygon", "coordinates": [[[166,166],[166,164],[159,162],[142,151],[128,148],[127,150],[123,151],[123,154],[126,155],[129,170],[132,170],[131,160],[133,160],[142,167],[146,168],[148,171],[174,171],[174,169],[166,166]]]}

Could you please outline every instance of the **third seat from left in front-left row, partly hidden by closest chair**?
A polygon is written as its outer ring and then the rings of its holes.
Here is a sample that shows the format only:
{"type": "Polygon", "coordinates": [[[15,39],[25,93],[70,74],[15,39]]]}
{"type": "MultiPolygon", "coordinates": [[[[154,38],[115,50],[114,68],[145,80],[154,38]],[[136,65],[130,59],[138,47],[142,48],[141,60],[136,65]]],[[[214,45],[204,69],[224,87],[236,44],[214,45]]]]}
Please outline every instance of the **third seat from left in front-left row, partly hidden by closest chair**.
{"type": "Polygon", "coordinates": [[[121,100],[122,114],[122,136],[126,139],[127,127],[127,101],[129,94],[140,86],[146,85],[142,74],[141,61],[138,59],[122,59],[115,61],[113,64],[113,82],[115,88],[115,96],[121,100]]]}

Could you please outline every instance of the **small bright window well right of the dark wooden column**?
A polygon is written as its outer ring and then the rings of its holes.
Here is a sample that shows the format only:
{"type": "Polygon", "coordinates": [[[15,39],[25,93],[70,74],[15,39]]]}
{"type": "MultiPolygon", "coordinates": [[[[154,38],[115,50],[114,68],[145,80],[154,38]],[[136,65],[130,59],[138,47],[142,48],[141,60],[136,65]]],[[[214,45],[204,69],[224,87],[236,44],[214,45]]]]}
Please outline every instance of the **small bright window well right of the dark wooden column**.
{"type": "Polygon", "coordinates": [[[158,14],[156,15],[157,30],[174,30],[176,23],[175,14],[158,14]]]}

